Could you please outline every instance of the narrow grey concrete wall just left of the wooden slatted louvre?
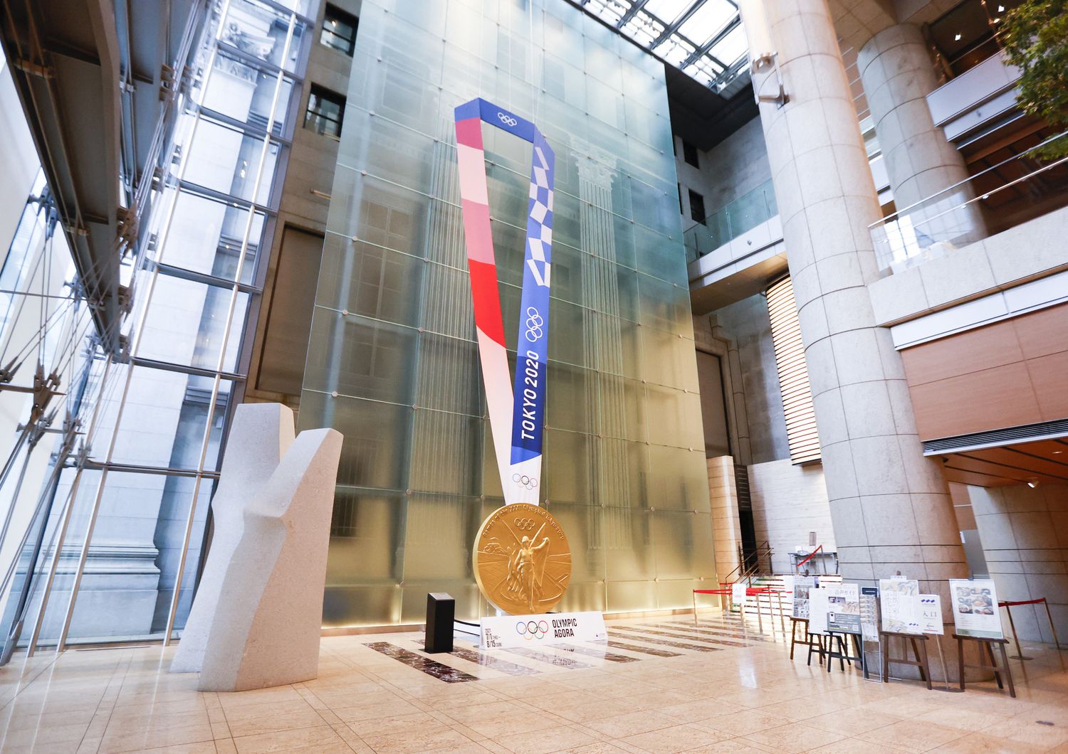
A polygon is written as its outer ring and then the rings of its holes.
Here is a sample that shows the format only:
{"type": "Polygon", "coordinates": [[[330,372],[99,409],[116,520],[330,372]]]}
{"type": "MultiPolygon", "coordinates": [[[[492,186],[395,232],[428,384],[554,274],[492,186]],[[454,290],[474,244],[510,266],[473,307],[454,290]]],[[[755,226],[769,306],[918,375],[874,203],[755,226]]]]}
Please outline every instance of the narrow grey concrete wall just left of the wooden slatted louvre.
{"type": "MultiPolygon", "coordinates": [[[[713,317],[716,323],[738,346],[751,463],[788,459],[790,450],[786,439],[786,419],[779,389],[779,371],[771,342],[767,300],[763,294],[751,295],[718,309],[713,317]]],[[[737,387],[737,383],[735,386],[737,387]]]]}

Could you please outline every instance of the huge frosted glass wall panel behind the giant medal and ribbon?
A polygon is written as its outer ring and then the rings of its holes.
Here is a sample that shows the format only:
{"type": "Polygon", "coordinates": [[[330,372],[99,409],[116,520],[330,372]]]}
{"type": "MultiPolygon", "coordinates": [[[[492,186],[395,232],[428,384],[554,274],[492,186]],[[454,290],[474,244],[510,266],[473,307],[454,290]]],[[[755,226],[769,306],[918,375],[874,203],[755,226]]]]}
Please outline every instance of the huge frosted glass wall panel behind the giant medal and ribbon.
{"type": "MultiPolygon", "coordinates": [[[[474,97],[556,153],[543,503],[575,562],[561,609],[689,606],[716,573],[662,65],[562,0],[365,0],[299,417],[345,435],[325,623],[417,623],[438,591],[458,616],[490,610],[471,546],[503,499],[453,125],[474,97]]],[[[514,369],[531,150],[483,133],[514,369]]]]}

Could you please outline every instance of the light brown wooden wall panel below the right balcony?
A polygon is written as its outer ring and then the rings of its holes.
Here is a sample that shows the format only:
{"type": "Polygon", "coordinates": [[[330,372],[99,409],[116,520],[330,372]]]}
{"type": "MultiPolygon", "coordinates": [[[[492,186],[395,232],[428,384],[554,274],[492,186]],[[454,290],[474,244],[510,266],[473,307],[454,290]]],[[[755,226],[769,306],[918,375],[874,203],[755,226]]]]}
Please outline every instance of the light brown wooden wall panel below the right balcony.
{"type": "Polygon", "coordinates": [[[921,439],[1068,418],[1068,304],[901,351],[921,439]]]}

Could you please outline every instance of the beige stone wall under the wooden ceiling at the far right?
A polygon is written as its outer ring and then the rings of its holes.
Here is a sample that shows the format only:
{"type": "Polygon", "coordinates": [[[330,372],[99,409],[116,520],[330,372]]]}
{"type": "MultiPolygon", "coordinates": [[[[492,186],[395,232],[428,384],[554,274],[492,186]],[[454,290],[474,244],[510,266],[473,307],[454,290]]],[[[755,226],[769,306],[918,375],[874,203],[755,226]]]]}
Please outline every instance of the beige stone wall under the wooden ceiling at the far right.
{"type": "MultiPolygon", "coordinates": [[[[990,577],[1001,600],[1046,597],[1064,642],[1068,636],[1068,485],[968,486],[990,577]]],[[[1006,635],[1008,621],[1002,612],[1006,635]]],[[[1022,640],[1052,642],[1041,605],[1012,608],[1022,640]]]]}

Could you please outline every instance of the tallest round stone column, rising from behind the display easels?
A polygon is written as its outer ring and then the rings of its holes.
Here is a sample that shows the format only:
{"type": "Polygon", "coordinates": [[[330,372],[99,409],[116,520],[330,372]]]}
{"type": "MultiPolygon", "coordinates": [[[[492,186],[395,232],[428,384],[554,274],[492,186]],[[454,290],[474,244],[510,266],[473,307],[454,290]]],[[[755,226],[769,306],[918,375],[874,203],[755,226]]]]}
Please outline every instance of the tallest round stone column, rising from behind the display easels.
{"type": "MultiPolygon", "coordinates": [[[[789,102],[760,103],[843,576],[901,572],[947,604],[968,576],[948,491],[924,458],[901,359],[878,327],[868,225],[881,216],[826,0],[763,3],[789,102]]],[[[743,5],[744,6],[744,5],[743,5]]],[[[758,19],[748,19],[747,30],[758,19]]],[[[752,47],[752,45],[751,45],[752,47]]],[[[754,76],[774,95],[774,73],[754,76]]]]}

